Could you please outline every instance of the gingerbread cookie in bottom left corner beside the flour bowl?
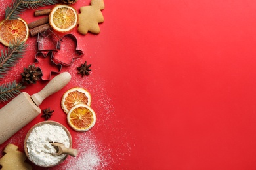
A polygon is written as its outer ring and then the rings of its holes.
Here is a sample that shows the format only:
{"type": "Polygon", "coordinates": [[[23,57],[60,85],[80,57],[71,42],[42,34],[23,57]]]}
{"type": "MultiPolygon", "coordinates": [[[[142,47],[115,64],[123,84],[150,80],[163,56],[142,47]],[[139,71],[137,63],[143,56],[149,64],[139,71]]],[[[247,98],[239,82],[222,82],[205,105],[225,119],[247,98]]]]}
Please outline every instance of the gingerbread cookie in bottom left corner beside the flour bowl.
{"type": "Polygon", "coordinates": [[[5,147],[5,155],[0,159],[1,170],[30,170],[32,165],[24,162],[26,160],[26,154],[18,151],[18,146],[14,144],[8,144],[5,147]]]}

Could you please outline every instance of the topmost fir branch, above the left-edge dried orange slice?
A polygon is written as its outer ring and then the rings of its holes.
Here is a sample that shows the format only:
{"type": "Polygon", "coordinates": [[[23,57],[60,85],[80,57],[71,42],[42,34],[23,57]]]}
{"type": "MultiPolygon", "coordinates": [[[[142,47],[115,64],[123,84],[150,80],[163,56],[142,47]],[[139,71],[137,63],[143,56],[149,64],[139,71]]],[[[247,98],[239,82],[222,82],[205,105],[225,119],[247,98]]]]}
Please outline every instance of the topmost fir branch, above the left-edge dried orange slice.
{"type": "Polygon", "coordinates": [[[20,18],[26,9],[37,9],[38,7],[44,7],[45,5],[54,5],[58,3],[57,0],[13,0],[12,5],[5,10],[5,20],[14,20],[20,18]]]}

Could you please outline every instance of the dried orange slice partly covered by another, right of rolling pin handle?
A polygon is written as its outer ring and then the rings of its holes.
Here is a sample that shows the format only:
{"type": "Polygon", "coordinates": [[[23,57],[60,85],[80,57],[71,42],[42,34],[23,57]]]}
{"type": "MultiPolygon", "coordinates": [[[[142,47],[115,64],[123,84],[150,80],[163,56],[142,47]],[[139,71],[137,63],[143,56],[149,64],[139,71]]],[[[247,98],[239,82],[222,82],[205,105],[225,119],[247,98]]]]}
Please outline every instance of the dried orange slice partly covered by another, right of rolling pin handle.
{"type": "Polygon", "coordinates": [[[70,88],[62,96],[61,107],[68,114],[68,111],[78,104],[91,106],[91,95],[84,88],[70,88]]]}

